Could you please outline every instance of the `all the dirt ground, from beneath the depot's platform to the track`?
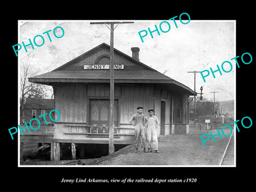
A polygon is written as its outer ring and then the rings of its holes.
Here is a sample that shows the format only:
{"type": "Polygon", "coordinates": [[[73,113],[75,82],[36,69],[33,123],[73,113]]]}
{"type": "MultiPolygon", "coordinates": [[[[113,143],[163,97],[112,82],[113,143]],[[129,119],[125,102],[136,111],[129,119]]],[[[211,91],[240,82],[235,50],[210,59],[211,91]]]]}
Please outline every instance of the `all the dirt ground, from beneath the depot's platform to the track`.
{"type": "MultiPolygon", "coordinates": [[[[94,159],[81,159],[84,165],[218,165],[223,152],[227,146],[229,137],[214,137],[213,142],[210,137],[205,141],[204,147],[200,135],[210,134],[210,130],[190,131],[189,134],[173,134],[165,135],[158,138],[159,154],[143,153],[143,148],[139,148],[139,152],[135,153],[133,145],[116,151],[115,153],[94,159]]],[[[229,134],[230,130],[226,130],[225,134],[229,134]]],[[[216,130],[212,130],[212,134],[217,134],[216,130]]],[[[21,162],[21,165],[77,165],[77,161],[38,161],[21,162]]],[[[227,150],[222,165],[234,165],[234,136],[230,140],[230,147],[227,150]]]]}

